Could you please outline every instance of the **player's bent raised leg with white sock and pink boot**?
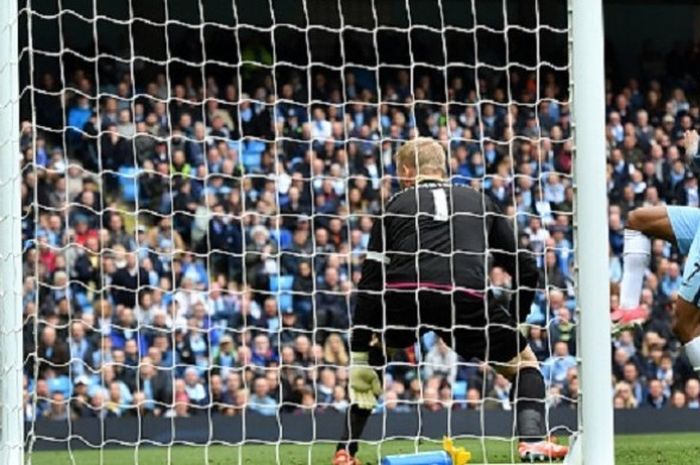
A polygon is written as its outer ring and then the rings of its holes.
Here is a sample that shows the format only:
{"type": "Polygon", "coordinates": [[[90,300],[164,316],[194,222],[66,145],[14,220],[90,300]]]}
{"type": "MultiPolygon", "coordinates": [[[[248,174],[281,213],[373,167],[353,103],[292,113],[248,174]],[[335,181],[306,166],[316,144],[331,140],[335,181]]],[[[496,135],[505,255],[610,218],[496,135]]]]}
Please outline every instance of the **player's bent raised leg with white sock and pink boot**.
{"type": "Polygon", "coordinates": [[[620,283],[620,308],[612,313],[619,326],[646,319],[648,310],[640,308],[644,273],[651,259],[650,238],[677,244],[685,255],[700,226],[700,212],[690,207],[646,207],[630,213],[624,242],[624,270],[620,283]]]}

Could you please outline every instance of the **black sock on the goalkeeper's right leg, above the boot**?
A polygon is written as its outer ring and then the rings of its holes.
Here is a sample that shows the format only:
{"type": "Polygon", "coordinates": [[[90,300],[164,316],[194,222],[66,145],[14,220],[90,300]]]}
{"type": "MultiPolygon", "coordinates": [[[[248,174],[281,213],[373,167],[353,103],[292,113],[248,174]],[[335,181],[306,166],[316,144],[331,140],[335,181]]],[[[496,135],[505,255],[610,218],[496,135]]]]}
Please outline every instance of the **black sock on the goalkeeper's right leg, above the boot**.
{"type": "Polygon", "coordinates": [[[525,442],[541,441],[547,434],[544,378],[534,367],[521,368],[516,376],[511,400],[514,396],[518,436],[525,442]]]}

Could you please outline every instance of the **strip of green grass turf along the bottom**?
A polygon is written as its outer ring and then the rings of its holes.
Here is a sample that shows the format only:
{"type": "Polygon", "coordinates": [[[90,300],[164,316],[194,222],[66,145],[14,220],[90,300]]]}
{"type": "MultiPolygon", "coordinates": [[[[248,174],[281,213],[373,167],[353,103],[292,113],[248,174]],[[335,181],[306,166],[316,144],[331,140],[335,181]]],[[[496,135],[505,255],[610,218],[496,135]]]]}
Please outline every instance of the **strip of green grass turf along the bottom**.
{"type": "MultiPolygon", "coordinates": [[[[472,453],[471,463],[513,463],[513,444],[506,440],[460,440],[472,453]],[[485,455],[484,455],[485,453],[485,455]],[[484,460],[486,457],[487,460],[484,460]]],[[[377,464],[384,455],[415,451],[416,442],[391,440],[378,446],[362,444],[359,458],[363,464],[377,464]]],[[[422,442],[419,450],[435,450],[435,442],[422,442]]],[[[141,447],[99,450],[35,452],[32,465],[328,465],[334,451],[333,444],[282,444],[278,448],[265,444],[240,446],[213,445],[141,447]],[[278,462],[279,458],[279,462],[278,462]],[[75,461],[73,461],[75,460],[75,461]]],[[[700,436],[698,434],[656,434],[617,436],[615,442],[617,465],[696,465],[700,463],[700,436]]],[[[28,457],[27,457],[28,459],[28,457]]]]}

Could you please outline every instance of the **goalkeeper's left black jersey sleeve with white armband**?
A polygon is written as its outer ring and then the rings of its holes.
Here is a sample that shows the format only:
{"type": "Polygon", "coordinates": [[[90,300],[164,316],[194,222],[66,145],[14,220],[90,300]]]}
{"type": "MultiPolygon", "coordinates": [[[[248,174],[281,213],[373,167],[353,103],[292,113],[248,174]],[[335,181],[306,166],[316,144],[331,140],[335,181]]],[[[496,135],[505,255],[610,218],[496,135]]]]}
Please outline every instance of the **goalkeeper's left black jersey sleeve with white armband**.
{"type": "Polygon", "coordinates": [[[351,338],[353,352],[367,351],[373,330],[381,329],[381,291],[384,283],[384,265],[388,260],[384,237],[384,220],[378,218],[372,226],[365,261],[362,264],[362,278],[357,286],[351,338]]]}

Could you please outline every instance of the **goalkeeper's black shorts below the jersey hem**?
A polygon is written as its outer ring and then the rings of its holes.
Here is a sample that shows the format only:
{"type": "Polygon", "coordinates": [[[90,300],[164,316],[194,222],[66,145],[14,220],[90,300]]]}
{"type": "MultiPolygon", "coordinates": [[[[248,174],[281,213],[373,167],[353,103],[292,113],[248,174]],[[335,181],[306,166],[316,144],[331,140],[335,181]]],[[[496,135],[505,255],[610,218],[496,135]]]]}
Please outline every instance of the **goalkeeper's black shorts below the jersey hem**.
{"type": "Polygon", "coordinates": [[[483,300],[459,291],[421,290],[416,296],[416,291],[389,290],[384,302],[383,344],[387,347],[409,347],[420,335],[435,331],[467,361],[502,363],[527,346],[506,308],[494,305],[487,309],[483,300]]]}

